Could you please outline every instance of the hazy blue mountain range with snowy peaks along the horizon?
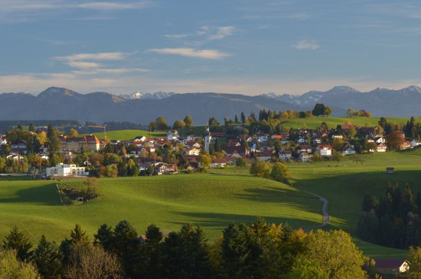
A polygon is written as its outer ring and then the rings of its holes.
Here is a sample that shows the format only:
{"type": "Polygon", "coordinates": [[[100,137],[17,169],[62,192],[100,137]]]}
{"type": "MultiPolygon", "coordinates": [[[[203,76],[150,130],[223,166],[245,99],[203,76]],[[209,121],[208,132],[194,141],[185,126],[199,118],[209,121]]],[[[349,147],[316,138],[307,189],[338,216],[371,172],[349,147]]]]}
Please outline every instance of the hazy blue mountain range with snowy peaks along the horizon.
{"type": "Polygon", "coordinates": [[[107,92],[81,94],[70,89],[50,87],[37,96],[29,93],[0,94],[0,120],[57,120],[80,122],[128,121],[147,124],[157,116],[168,123],[190,114],[197,125],[210,117],[240,116],[260,109],[306,111],[317,102],[332,107],[333,116],[345,116],[346,110],[366,109],[373,116],[409,117],[421,115],[421,88],[375,89],[361,92],[351,87],[333,87],[328,91],[309,91],[303,95],[266,93],[245,96],[233,93],[136,92],[116,96],[107,92]]]}

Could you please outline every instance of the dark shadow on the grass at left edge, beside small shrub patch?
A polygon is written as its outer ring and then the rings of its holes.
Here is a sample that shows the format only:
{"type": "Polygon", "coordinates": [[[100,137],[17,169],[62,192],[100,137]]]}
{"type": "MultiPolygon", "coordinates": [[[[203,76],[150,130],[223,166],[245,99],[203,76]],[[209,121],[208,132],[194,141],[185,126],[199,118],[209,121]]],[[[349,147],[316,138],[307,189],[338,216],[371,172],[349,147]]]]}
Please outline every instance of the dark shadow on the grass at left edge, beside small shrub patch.
{"type": "Polygon", "coordinates": [[[2,198],[0,204],[6,203],[34,203],[44,206],[60,206],[60,196],[55,188],[55,183],[42,186],[28,187],[15,192],[17,197],[2,198]]]}

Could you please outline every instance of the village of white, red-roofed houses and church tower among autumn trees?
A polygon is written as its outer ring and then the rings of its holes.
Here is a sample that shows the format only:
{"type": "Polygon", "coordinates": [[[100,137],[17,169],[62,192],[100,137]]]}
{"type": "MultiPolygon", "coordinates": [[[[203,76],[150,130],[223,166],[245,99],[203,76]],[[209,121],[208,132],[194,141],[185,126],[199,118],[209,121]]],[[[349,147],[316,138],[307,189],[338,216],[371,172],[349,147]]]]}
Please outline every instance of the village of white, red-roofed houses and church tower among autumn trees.
{"type": "MultiPolygon", "coordinates": [[[[4,135],[0,136],[3,155],[0,171],[44,173],[45,177],[161,175],[249,165],[253,159],[311,163],[341,161],[343,156],[353,156],[359,161],[357,154],[407,150],[421,145],[419,139],[406,138],[399,130],[386,135],[382,127],[359,127],[351,123],[334,129],[289,129],[289,132],[274,134],[246,133],[244,125],[233,125],[229,129],[223,129],[224,126],[201,128],[201,134],[184,135],[171,129],[166,137],[137,136],[124,141],[108,141],[93,134],[57,134],[56,152],[51,152],[51,140],[44,141],[38,152],[34,152],[34,143],[28,144],[19,136],[13,140],[4,135]],[[126,170],[127,162],[131,172],[126,170]]],[[[26,133],[35,135],[33,139],[36,139],[46,131],[26,133]]]]}

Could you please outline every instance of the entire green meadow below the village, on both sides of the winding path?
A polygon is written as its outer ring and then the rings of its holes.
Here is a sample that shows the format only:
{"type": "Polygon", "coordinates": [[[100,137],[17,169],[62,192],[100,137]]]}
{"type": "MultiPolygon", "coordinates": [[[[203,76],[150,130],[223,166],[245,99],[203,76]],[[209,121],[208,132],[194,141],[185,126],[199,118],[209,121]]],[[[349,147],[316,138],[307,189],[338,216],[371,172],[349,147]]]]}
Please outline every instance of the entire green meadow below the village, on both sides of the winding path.
{"type": "Polygon", "coordinates": [[[235,167],[208,174],[98,179],[100,197],[75,206],[62,206],[56,187],[80,187],[83,180],[1,177],[0,237],[16,224],[33,241],[43,233],[58,241],[75,223],[93,235],[100,224],[113,226],[122,219],[131,222],[139,233],[152,223],[165,232],[192,223],[204,228],[211,240],[216,240],[229,222],[250,223],[256,216],[269,222],[287,222],[294,228],[312,228],[321,222],[321,201],[308,191],[328,199],[327,228],[348,231],[372,257],[404,258],[405,250],[359,240],[355,228],[366,192],[382,195],[389,182],[402,187],[409,183],[414,191],[421,190],[421,150],[361,156],[363,165],[349,158],[289,163],[292,186],[251,177],[248,168],[235,167]],[[386,167],[394,167],[395,173],[386,174],[386,167]]]}

